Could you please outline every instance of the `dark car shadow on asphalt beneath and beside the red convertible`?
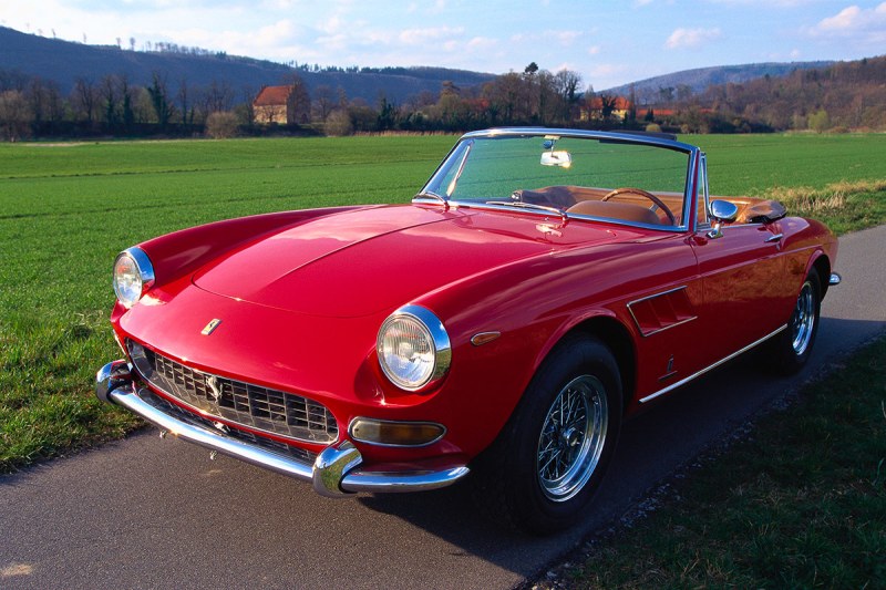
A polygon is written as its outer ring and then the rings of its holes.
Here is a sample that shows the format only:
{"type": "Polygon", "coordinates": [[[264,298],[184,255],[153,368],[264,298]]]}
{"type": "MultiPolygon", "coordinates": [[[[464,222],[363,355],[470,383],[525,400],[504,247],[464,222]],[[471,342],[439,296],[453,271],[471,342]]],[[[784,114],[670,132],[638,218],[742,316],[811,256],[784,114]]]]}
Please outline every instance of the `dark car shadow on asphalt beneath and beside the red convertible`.
{"type": "Polygon", "coordinates": [[[676,472],[681,478],[691,477],[689,467],[700,453],[742,436],[754,416],[832,369],[849,352],[844,348],[844,335],[868,334],[861,343],[886,330],[886,322],[823,318],[820,329],[826,338],[821,339],[811,362],[797,375],[773,376],[761,366],[764,351],[751,351],[643,407],[626,422],[609,474],[594,503],[571,529],[558,535],[534,537],[491,521],[473,501],[470,479],[423,494],[362,495],[358,501],[421,527],[462,551],[532,578],[583,539],[618,526],[627,511],[636,511],[638,501],[676,472]]]}

